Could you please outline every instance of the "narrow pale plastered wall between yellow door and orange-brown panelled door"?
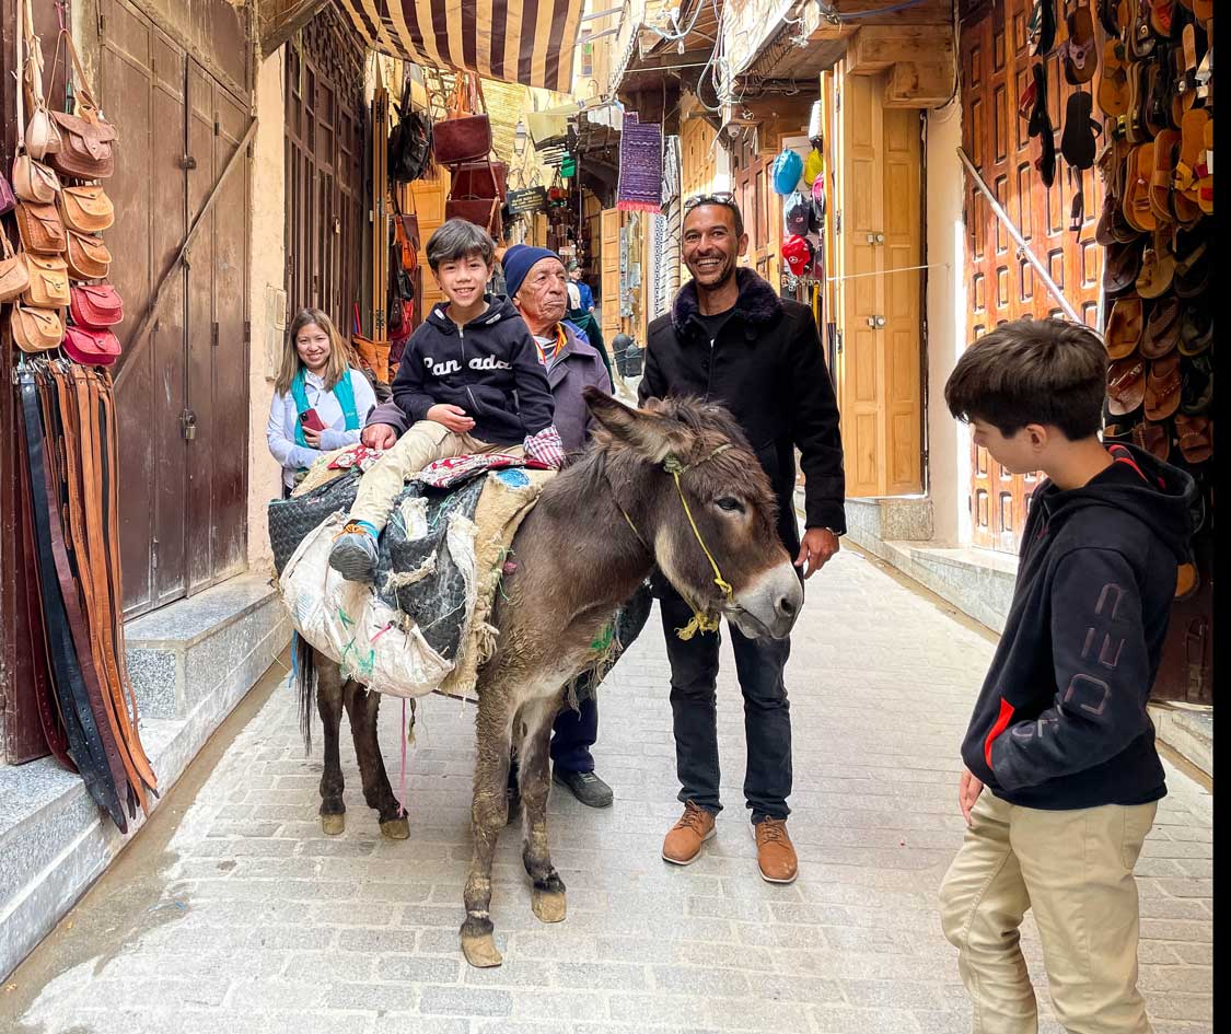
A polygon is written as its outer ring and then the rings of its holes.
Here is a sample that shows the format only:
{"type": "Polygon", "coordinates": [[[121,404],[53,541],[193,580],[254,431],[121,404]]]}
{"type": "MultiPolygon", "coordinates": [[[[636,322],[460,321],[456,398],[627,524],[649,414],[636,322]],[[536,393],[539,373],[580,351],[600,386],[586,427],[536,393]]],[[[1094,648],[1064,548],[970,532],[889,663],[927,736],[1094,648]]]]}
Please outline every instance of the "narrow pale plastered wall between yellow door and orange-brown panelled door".
{"type": "Polygon", "coordinates": [[[927,117],[928,474],[937,543],[970,543],[970,437],[944,405],[944,383],[966,347],[965,175],[958,100],[927,117]]]}

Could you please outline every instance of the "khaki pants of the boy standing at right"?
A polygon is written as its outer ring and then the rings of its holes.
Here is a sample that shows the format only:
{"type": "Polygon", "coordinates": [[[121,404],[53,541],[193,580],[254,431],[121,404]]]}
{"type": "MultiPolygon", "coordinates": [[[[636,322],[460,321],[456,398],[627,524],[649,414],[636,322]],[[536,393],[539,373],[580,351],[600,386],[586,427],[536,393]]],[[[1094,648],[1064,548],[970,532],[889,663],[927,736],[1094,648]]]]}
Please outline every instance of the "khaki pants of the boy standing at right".
{"type": "Polygon", "coordinates": [[[1034,910],[1056,1018],[1071,1034],[1150,1034],[1137,991],[1133,867],[1157,804],[1043,811],[984,790],[940,886],[972,1034],[1037,1034],[1018,927],[1034,910]]]}

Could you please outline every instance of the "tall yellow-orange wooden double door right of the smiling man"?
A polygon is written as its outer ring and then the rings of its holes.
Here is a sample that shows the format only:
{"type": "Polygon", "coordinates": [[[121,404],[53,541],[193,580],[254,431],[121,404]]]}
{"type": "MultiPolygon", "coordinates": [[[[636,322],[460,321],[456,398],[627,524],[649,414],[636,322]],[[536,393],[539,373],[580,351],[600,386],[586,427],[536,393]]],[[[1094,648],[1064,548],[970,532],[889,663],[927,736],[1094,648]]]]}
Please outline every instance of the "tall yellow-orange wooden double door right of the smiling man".
{"type": "Polygon", "coordinates": [[[881,80],[841,80],[833,150],[836,380],[847,495],[922,490],[918,114],[881,106],[881,80]]]}

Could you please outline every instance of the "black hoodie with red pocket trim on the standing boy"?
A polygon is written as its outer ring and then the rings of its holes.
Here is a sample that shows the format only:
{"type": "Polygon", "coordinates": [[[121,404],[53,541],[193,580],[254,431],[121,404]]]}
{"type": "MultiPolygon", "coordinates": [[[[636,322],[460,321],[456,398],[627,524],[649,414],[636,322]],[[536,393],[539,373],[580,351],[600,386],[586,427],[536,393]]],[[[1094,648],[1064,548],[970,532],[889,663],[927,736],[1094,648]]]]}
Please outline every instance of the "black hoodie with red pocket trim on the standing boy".
{"type": "Polygon", "coordinates": [[[1188,556],[1197,487],[1115,446],[1087,485],[1034,492],[1013,606],[961,745],[1011,804],[1065,810],[1167,793],[1146,700],[1188,556]]]}

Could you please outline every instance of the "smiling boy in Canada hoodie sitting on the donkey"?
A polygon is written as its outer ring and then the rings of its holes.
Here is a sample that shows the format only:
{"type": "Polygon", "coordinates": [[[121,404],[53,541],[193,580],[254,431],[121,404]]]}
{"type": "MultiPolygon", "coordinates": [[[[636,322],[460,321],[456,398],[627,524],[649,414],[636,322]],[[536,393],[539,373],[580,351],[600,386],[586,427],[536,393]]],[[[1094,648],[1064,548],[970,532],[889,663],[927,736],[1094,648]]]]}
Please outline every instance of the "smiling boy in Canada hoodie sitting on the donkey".
{"type": "Polygon", "coordinates": [[[372,581],[377,539],[406,479],[453,455],[510,452],[559,468],[564,447],[534,339],[507,299],[485,293],[496,245],[481,226],[449,219],[427,241],[427,265],[448,298],[406,342],[393,400],[414,421],[359,483],[329,564],[372,581]]]}

